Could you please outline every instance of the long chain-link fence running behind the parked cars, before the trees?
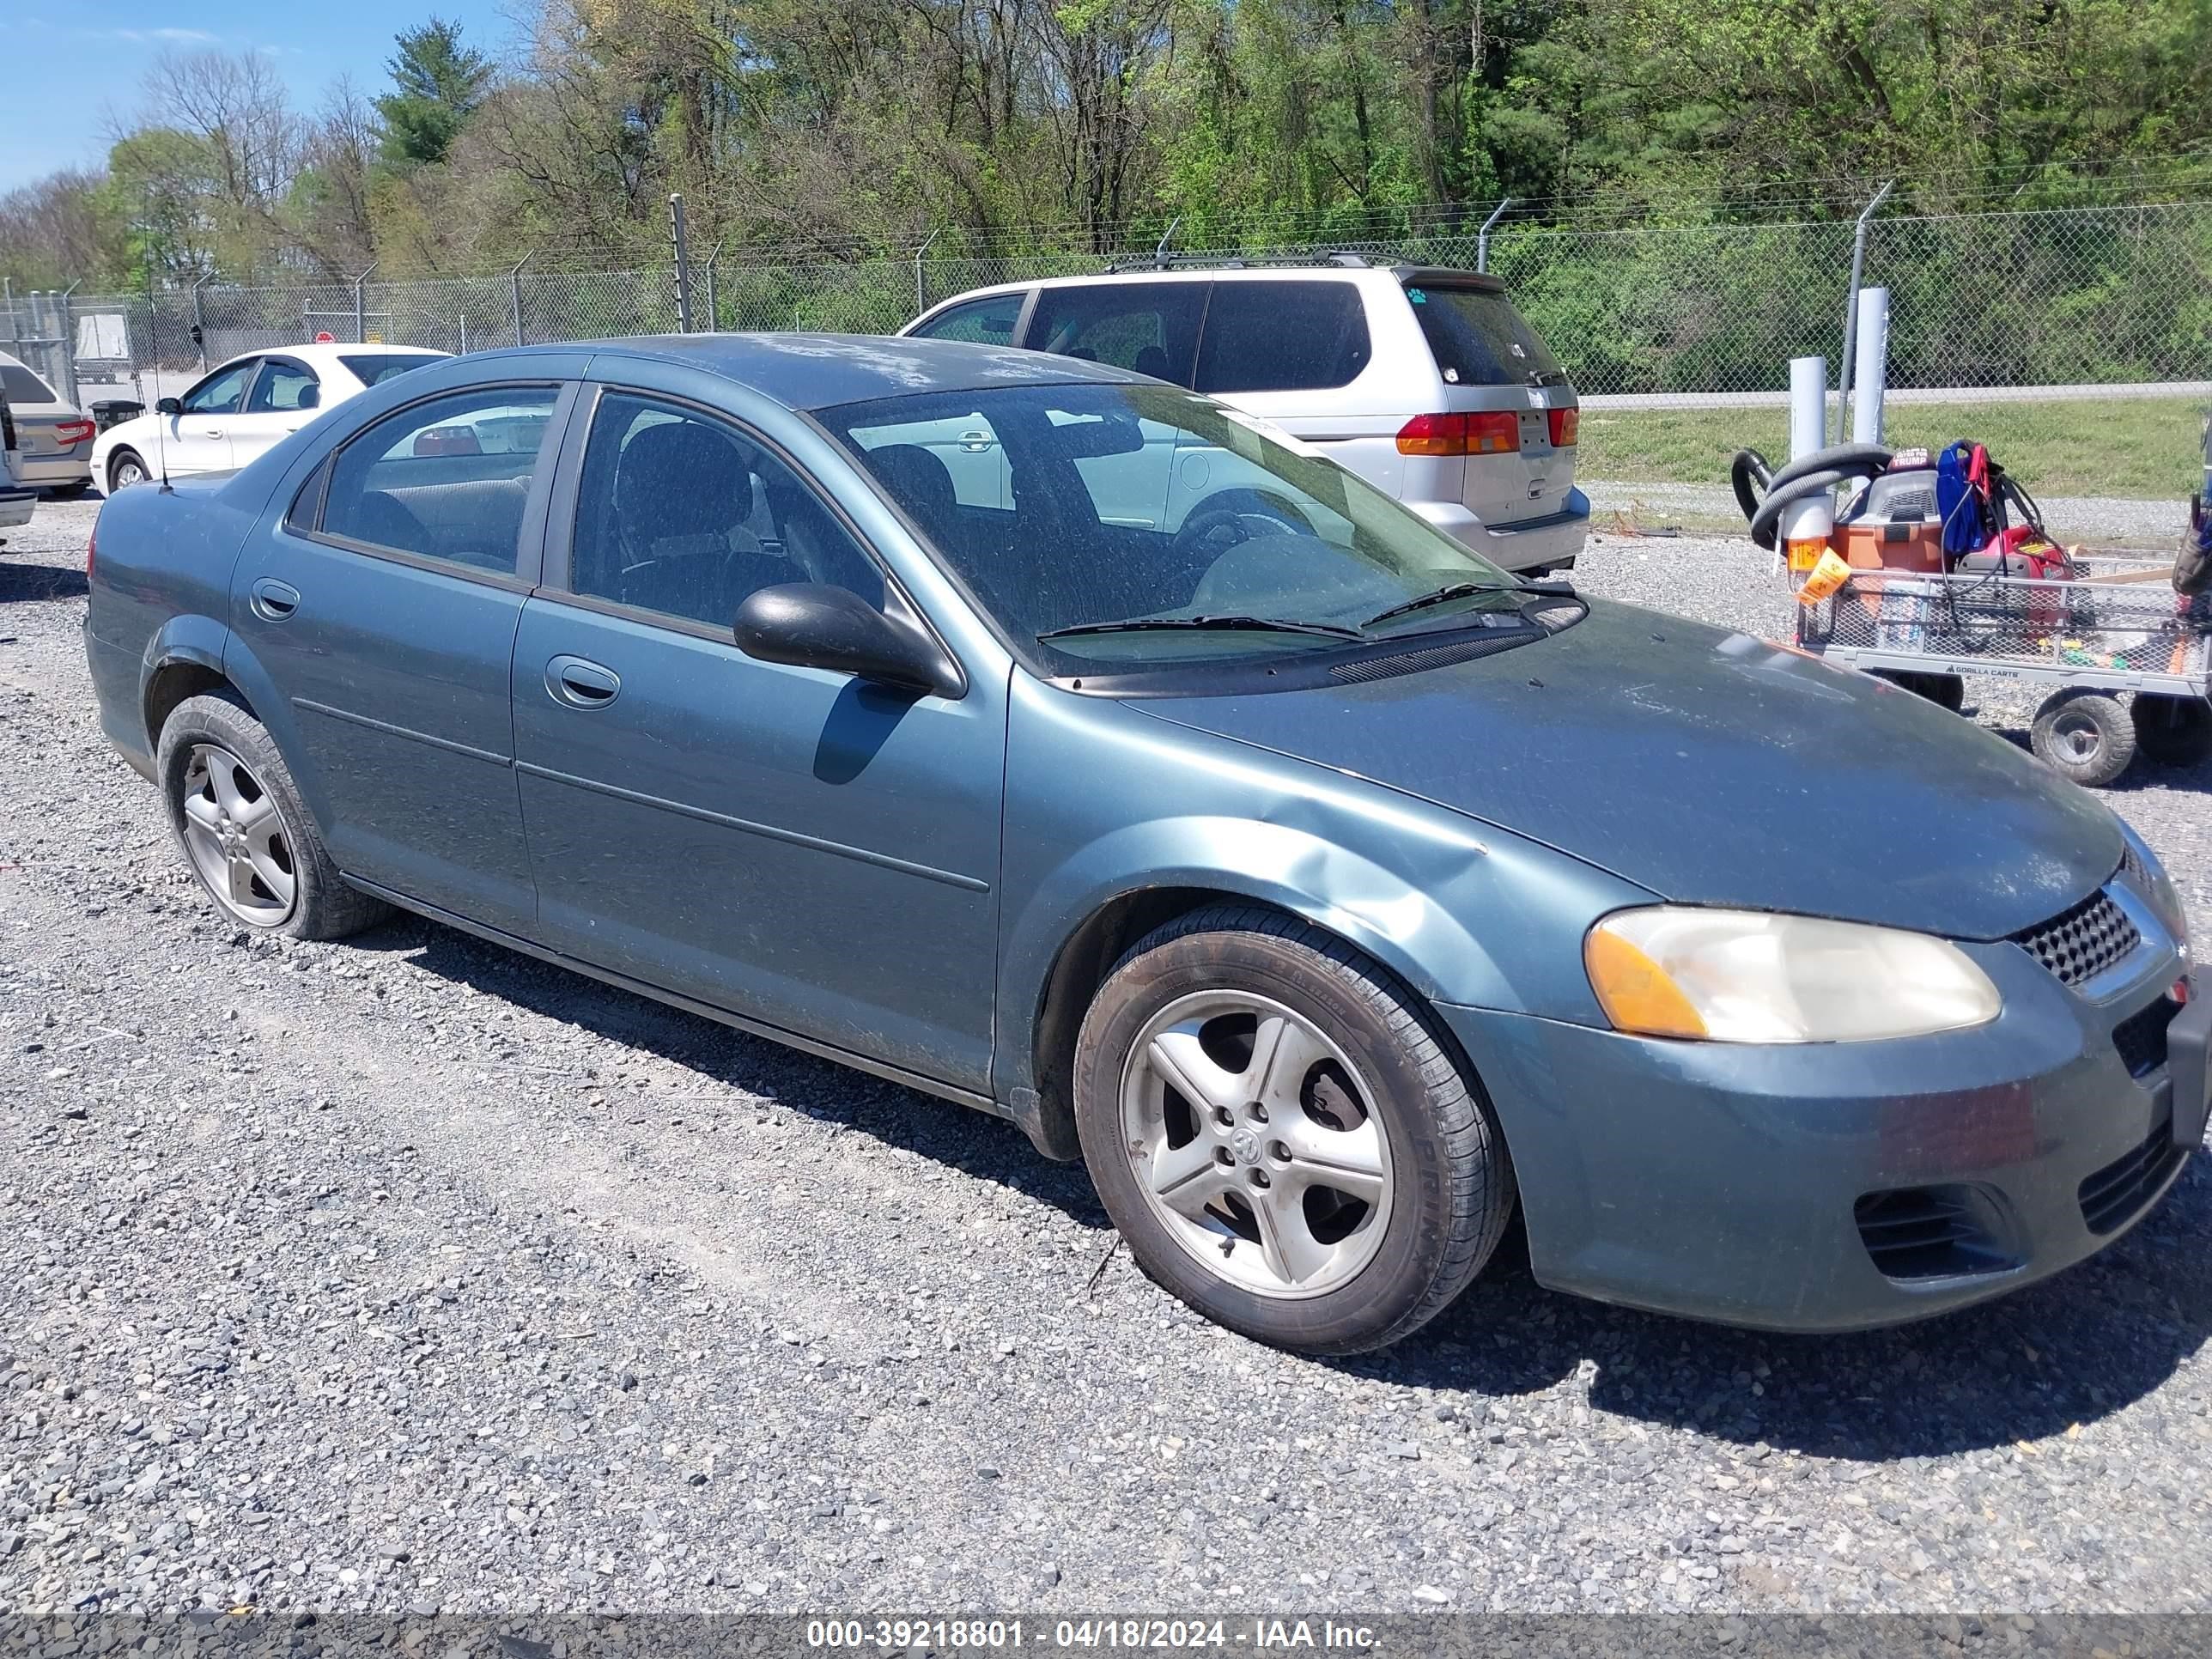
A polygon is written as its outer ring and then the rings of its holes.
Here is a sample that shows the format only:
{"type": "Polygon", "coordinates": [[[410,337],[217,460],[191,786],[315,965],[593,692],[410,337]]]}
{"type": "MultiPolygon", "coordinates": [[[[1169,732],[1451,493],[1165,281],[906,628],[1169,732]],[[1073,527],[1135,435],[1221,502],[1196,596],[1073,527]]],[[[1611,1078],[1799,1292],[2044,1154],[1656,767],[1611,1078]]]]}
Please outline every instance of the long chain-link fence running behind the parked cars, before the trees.
{"type": "MultiPolygon", "coordinates": [[[[1843,356],[1849,221],[1575,230],[1480,215],[1354,241],[1177,250],[1177,259],[1422,263],[1502,276],[1588,396],[1778,394],[1792,356],[1843,356]]],[[[1152,246],[1119,254],[1150,263],[1152,246]]],[[[0,349],[80,403],[128,383],[144,400],[237,352],[330,336],[469,352],[679,327],[675,268],[434,281],[294,283],[0,301],[0,349]],[[9,341],[18,345],[9,345],[9,341]],[[95,378],[100,376],[100,378],[95,378]]],[[[993,254],[933,239],[927,257],[761,263],[692,259],[695,327],[883,334],[969,288],[1106,270],[1108,254],[993,254]]],[[[1891,290],[1889,385],[2161,385],[2212,378],[2212,201],[1889,217],[1867,241],[1891,290]]]]}

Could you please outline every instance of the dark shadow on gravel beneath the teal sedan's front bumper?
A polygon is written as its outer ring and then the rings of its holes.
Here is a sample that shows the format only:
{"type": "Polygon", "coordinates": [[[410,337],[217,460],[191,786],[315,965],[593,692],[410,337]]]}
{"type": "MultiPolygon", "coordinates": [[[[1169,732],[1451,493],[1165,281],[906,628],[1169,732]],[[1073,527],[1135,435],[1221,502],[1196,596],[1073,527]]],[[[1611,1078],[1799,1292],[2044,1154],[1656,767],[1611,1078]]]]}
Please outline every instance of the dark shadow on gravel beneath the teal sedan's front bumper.
{"type": "Polygon", "coordinates": [[[1433,1325],[1345,1369],[1464,1389],[1475,1411],[1484,1396],[1586,1371],[1595,1409],[1827,1458],[2004,1447],[2141,1400],[2212,1340],[2208,1234],[2212,1168],[2197,1157],[2148,1221],[2070,1272],[1849,1336],[1736,1332],[1557,1296],[1528,1276],[1526,1250],[1500,1250],[1433,1325]]]}

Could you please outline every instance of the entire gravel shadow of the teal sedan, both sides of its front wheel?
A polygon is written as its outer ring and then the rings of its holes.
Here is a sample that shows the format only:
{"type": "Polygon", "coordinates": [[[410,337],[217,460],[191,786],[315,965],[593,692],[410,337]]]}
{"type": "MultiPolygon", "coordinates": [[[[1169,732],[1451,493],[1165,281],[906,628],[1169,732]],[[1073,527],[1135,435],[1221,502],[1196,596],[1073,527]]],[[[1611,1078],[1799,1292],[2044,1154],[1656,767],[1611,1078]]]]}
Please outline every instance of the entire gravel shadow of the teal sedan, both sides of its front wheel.
{"type": "MultiPolygon", "coordinates": [[[[445,980],[584,1026],[825,1124],[1051,1203],[1110,1239],[1079,1166],[1011,1124],[880,1082],[580,973],[403,918],[354,940],[445,980]]],[[[582,1088],[582,1079],[577,1084],[582,1088]]],[[[1827,1458],[1942,1455],[2042,1440],[2141,1400],[2212,1340],[2212,1159],[2104,1254],[1982,1307],[1851,1336],[1778,1336],[1562,1296],[1528,1276],[1520,1223],[1451,1310],[1383,1354],[1325,1371],[1464,1396],[1588,1376],[1599,1411],[1827,1458]],[[1756,1389],[1756,1391],[1754,1391],[1756,1389]]]]}

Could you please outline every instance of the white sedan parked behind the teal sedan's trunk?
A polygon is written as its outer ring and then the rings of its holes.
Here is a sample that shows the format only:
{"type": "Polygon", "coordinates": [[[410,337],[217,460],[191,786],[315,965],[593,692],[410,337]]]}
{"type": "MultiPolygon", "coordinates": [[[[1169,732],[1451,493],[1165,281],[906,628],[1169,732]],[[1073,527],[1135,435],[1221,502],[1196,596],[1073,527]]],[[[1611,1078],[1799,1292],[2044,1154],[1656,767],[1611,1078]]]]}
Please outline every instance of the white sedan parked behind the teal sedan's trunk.
{"type": "Polygon", "coordinates": [[[108,427],[93,478],[111,495],[153,478],[230,473],[274,449],[323,409],[449,352],[416,345],[283,345],[217,363],[181,398],[108,427]]]}

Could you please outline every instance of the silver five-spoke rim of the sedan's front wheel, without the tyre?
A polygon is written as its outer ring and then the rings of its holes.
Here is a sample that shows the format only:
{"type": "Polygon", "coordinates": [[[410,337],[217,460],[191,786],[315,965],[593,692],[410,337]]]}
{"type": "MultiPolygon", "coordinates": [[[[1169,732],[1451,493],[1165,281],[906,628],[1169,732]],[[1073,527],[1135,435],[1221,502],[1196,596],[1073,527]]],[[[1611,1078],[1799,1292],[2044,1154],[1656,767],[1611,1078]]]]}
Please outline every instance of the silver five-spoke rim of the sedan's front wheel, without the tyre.
{"type": "Polygon", "coordinates": [[[1250,991],[1177,998],[1121,1075],[1121,1144],[1168,1234],[1261,1296],[1356,1276],[1391,1208],[1376,1093],[1305,1015],[1250,991]]]}

